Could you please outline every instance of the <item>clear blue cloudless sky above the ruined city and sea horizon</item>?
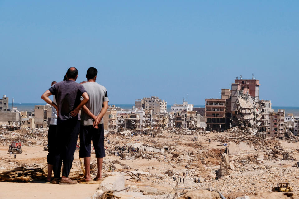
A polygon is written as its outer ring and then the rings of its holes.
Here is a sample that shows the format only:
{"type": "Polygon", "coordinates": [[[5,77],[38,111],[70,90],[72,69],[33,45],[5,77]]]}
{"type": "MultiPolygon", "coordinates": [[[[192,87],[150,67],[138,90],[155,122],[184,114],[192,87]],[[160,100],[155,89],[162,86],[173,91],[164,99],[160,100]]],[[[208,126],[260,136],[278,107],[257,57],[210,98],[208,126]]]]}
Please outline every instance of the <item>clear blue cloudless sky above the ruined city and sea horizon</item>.
{"type": "Polygon", "coordinates": [[[298,105],[299,1],[1,1],[0,95],[43,102],[69,67],[88,67],[110,104],[152,95],[192,104],[236,76],[260,98],[298,105]]]}

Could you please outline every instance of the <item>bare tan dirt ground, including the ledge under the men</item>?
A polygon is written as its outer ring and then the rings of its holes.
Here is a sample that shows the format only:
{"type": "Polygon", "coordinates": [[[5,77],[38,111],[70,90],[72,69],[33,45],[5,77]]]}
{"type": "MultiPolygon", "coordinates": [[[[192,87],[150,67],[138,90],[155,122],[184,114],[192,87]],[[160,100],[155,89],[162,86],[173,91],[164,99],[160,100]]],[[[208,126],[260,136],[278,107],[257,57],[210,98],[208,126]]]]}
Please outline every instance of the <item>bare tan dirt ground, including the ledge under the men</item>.
{"type": "MultiPolygon", "coordinates": [[[[192,132],[192,131],[190,131],[192,132]]],[[[110,167],[115,171],[125,169],[140,174],[140,181],[125,178],[126,191],[138,192],[150,198],[164,199],[168,195],[178,195],[197,188],[213,188],[226,198],[236,198],[244,195],[252,196],[263,190],[271,192],[272,184],[289,181],[294,192],[299,192],[299,168],[292,167],[299,160],[299,143],[292,141],[272,140],[267,137],[266,144],[258,137],[239,135],[238,132],[198,133],[190,135],[169,132],[156,132],[155,137],[134,135],[107,135],[110,144],[105,141],[106,157],[103,163],[103,173],[109,173],[110,167]],[[191,141],[197,136],[197,141],[191,141]],[[212,142],[208,140],[212,139],[212,142]],[[138,141],[137,141],[138,140],[138,141]],[[253,144],[254,151],[230,157],[229,174],[217,179],[216,174],[223,161],[222,154],[226,146],[223,143],[240,141],[253,144]],[[154,142],[154,143],[153,143],[154,142]],[[143,151],[140,152],[116,151],[116,146],[132,146],[142,143],[156,148],[167,148],[164,153],[143,151]],[[282,147],[277,144],[280,143],[282,147]],[[276,147],[276,148],[275,148],[276,147]],[[279,148],[279,149],[277,149],[279,148]],[[124,154],[117,155],[117,152],[124,154]],[[263,153],[262,161],[257,160],[257,154],[263,153]],[[291,159],[283,160],[282,154],[290,153],[291,159]],[[278,160],[279,159],[279,160],[278,160]],[[281,166],[279,165],[281,164],[281,166]],[[232,165],[232,166],[230,166],[232,165]],[[187,176],[186,176],[186,173],[187,176]],[[185,174],[185,176],[183,175],[185,174]],[[173,180],[176,177],[176,181],[173,180]],[[194,182],[200,178],[200,183],[194,182]],[[178,186],[176,187],[178,181],[178,186]]],[[[6,136],[7,138],[9,135],[6,136]]],[[[46,136],[38,137],[40,144],[24,144],[23,153],[17,154],[16,159],[7,152],[8,145],[0,145],[0,169],[10,169],[17,166],[45,167],[47,165],[47,151],[43,149],[46,136]]],[[[80,170],[78,151],[74,154],[71,172],[80,170]]],[[[91,155],[92,164],[96,164],[95,155],[91,155]]],[[[45,170],[46,171],[46,170],[45,170]]],[[[96,174],[96,171],[93,175],[96,174]]],[[[22,198],[90,198],[97,190],[97,184],[56,185],[42,181],[31,183],[0,182],[0,198],[12,198],[17,191],[22,198]],[[67,188],[67,192],[65,189],[67,188]]]]}

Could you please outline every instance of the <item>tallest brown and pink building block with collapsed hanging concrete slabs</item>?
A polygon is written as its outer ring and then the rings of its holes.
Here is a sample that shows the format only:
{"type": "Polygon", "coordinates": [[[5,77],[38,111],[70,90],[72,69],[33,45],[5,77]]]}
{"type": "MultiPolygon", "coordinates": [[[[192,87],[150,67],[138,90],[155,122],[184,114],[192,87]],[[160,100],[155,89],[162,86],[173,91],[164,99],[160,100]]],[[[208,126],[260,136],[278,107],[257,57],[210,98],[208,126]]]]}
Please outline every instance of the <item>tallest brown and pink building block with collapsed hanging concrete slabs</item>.
{"type": "Polygon", "coordinates": [[[234,126],[270,131],[270,100],[259,99],[259,80],[235,79],[230,89],[221,89],[221,99],[206,99],[205,117],[209,130],[223,131],[234,126]]]}

